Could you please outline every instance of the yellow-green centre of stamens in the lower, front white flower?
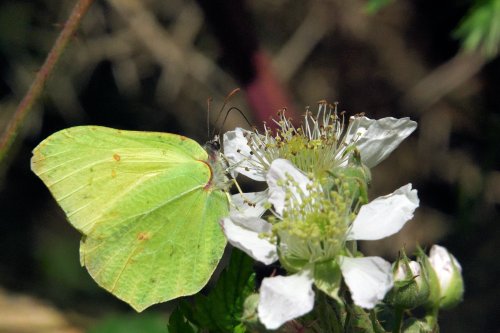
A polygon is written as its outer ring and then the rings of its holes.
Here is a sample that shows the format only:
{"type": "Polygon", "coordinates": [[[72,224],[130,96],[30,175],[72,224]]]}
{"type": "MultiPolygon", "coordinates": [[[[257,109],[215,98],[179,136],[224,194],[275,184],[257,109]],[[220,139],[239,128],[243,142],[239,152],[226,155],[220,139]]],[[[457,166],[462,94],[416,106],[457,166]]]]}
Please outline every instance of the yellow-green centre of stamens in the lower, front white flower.
{"type": "Polygon", "coordinates": [[[355,214],[351,211],[352,194],[347,187],[323,191],[319,182],[311,182],[304,194],[293,180],[283,184],[286,199],[283,216],[271,218],[272,239],[278,242],[280,261],[287,269],[300,270],[308,263],[335,259],[355,214]]]}

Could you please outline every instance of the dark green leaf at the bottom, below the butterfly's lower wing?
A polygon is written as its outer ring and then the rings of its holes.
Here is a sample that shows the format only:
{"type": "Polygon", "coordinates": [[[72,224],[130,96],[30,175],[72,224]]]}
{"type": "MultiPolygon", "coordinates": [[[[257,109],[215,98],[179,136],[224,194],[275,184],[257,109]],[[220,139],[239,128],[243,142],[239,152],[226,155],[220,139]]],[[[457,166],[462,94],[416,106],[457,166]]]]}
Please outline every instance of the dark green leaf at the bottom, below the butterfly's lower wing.
{"type": "Polygon", "coordinates": [[[182,302],[181,310],[192,323],[210,332],[244,332],[243,303],[254,288],[252,259],[233,249],[229,266],[215,288],[208,296],[196,295],[192,303],[182,302]]]}

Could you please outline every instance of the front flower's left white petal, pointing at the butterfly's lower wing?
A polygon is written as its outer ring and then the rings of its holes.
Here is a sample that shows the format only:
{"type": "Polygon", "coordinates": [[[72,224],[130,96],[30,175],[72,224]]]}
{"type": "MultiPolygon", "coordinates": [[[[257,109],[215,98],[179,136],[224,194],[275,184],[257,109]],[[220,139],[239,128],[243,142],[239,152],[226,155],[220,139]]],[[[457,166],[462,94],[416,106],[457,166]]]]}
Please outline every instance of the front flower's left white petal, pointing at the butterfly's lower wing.
{"type": "Polygon", "coordinates": [[[278,260],[276,245],[259,234],[270,232],[272,225],[258,217],[231,215],[221,221],[229,243],[266,265],[278,260]]]}

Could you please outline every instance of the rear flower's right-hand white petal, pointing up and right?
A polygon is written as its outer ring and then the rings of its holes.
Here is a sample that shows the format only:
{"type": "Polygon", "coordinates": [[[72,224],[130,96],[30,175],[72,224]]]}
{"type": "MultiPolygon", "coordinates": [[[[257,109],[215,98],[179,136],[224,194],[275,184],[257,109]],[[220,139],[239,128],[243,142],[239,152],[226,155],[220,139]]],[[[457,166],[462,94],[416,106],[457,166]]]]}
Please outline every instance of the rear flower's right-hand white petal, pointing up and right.
{"type": "Polygon", "coordinates": [[[415,129],[417,123],[410,118],[392,117],[369,119],[355,118],[346,134],[346,142],[356,140],[362,162],[372,168],[389,156],[415,129]]]}

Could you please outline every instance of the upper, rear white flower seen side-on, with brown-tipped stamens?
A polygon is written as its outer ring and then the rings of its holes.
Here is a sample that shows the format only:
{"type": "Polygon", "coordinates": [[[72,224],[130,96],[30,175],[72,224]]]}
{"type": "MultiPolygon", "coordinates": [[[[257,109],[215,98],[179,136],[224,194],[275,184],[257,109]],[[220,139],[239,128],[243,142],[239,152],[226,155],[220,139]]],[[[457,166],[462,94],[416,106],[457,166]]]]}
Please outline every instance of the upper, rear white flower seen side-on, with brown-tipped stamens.
{"type": "Polygon", "coordinates": [[[369,168],[383,161],[417,127],[409,118],[392,117],[379,120],[364,116],[344,119],[336,106],[319,104],[313,116],[307,112],[302,127],[294,127],[284,112],[273,132],[264,134],[236,128],[224,134],[224,155],[233,176],[241,173],[253,180],[265,181],[271,163],[283,158],[303,172],[322,176],[336,167],[346,166],[354,151],[369,168]],[[353,149],[356,148],[356,149],[353,149]]]}

